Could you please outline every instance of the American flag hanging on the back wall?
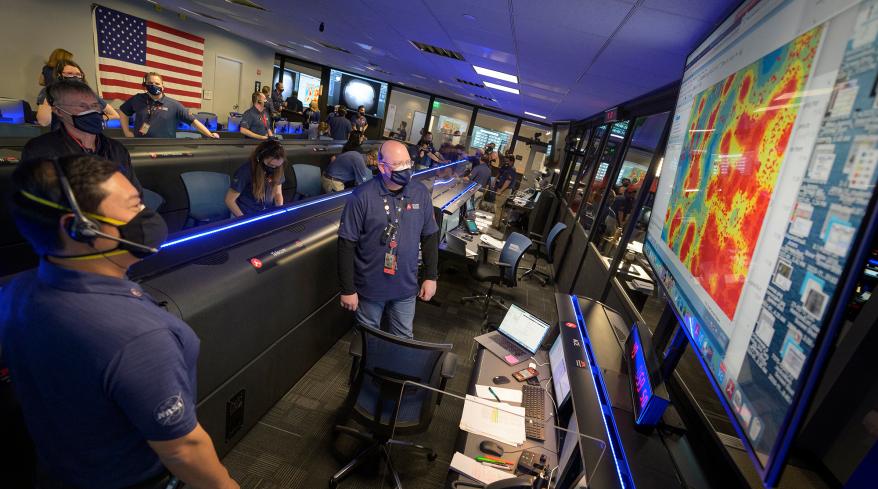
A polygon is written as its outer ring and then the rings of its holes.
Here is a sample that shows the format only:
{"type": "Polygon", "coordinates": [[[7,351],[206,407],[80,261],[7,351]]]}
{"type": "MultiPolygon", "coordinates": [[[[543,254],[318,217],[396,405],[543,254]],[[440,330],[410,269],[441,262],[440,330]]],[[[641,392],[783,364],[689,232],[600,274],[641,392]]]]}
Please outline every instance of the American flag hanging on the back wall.
{"type": "Polygon", "coordinates": [[[143,75],[162,75],[165,93],[189,108],[201,107],[204,38],[108,9],[94,8],[98,89],[105,99],[143,92],[143,75]]]}

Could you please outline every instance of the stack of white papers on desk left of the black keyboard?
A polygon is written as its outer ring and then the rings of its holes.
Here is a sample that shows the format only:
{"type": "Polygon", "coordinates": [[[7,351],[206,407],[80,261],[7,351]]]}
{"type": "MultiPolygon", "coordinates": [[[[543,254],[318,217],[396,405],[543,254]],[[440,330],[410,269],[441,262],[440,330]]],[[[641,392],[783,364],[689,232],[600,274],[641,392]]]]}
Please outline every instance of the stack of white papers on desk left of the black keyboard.
{"type": "Polygon", "coordinates": [[[460,429],[507,445],[524,443],[524,408],[467,394],[460,429]]]}

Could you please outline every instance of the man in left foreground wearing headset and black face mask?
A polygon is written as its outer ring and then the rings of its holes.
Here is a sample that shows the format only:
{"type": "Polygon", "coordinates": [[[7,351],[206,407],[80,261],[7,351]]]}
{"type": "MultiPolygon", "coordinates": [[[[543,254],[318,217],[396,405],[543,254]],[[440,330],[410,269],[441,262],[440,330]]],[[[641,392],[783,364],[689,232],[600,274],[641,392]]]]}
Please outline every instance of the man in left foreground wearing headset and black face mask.
{"type": "Polygon", "coordinates": [[[167,237],[115,163],[28,160],[10,210],[42,257],[0,291],[0,348],[41,489],[237,489],[195,417],[199,340],[128,267],[167,237]]]}

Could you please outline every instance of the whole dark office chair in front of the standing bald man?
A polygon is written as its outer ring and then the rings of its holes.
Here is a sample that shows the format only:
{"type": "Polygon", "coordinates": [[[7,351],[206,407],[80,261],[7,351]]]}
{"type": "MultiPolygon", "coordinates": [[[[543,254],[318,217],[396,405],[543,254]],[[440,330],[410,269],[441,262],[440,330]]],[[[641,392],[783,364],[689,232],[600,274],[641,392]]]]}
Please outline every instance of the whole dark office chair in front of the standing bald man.
{"type": "Polygon", "coordinates": [[[391,446],[424,450],[428,460],[436,459],[436,452],[431,448],[392,437],[423,433],[430,427],[433,411],[442,401],[442,395],[405,382],[417,382],[444,391],[457,369],[457,356],[451,353],[451,348],[450,344],[410,340],[357,325],[350,348],[354,357],[351,388],[341,408],[341,423],[335,426],[335,433],[353,436],[368,446],[329,479],[329,487],[337,487],[377,452],[393,476],[394,487],[402,489],[399,473],[390,457],[391,446]],[[350,418],[367,431],[345,426],[350,418]]]}

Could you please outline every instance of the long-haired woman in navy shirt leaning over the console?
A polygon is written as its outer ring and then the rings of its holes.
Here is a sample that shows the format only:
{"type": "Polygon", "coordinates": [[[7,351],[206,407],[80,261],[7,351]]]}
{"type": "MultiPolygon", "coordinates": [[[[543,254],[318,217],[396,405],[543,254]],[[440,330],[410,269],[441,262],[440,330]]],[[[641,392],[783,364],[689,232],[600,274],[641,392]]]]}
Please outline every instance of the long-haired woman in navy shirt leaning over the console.
{"type": "Polygon", "coordinates": [[[226,206],[235,217],[255,214],[284,204],[283,185],[286,161],[284,147],[278,141],[259,143],[250,161],[241,165],[226,192],[226,206]]]}

